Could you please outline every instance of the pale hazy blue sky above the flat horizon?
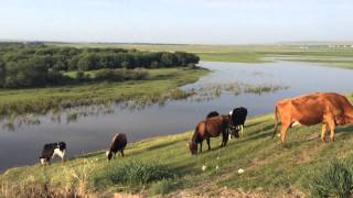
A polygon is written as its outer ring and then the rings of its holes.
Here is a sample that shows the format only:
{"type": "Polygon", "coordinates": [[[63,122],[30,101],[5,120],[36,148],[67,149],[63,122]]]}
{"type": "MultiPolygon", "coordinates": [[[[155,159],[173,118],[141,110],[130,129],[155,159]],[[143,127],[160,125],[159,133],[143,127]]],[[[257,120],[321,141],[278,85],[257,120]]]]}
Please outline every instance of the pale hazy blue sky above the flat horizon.
{"type": "Polygon", "coordinates": [[[353,41],[353,0],[0,0],[0,40],[353,41]]]}

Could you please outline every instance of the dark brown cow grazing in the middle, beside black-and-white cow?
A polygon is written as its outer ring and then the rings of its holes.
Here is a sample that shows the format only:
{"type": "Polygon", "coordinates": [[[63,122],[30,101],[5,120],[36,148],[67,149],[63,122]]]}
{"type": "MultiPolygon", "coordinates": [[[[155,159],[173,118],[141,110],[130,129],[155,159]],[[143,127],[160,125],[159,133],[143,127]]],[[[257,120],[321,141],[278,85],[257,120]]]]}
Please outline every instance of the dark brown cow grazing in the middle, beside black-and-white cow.
{"type": "MultiPolygon", "coordinates": [[[[207,141],[208,150],[211,150],[210,139],[220,136],[222,133],[222,146],[225,146],[228,141],[229,116],[218,116],[210,118],[197,124],[195,132],[189,143],[189,148],[192,155],[197,154],[197,144],[200,144],[200,153],[202,152],[202,143],[207,141]]],[[[238,135],[237,135],[238,136],[238,135]]]]}

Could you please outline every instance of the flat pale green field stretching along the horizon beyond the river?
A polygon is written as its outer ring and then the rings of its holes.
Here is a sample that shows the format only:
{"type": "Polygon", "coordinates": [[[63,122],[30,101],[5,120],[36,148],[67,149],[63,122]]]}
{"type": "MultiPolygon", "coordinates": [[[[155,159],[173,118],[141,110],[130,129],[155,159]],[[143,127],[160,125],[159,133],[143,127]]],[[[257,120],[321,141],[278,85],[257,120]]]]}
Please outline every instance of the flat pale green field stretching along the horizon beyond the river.
{"type": "Polygon", "coordinates": [[[271,61],[313,62],[353,68],[353,47],[300,47],[299,45],[153,45],[153,44],[55,44],[77,47],[121,47],[141,51],[185,51],[195,53],[201,61],[261,63],[271,61]]]}

